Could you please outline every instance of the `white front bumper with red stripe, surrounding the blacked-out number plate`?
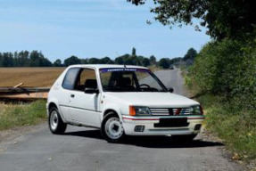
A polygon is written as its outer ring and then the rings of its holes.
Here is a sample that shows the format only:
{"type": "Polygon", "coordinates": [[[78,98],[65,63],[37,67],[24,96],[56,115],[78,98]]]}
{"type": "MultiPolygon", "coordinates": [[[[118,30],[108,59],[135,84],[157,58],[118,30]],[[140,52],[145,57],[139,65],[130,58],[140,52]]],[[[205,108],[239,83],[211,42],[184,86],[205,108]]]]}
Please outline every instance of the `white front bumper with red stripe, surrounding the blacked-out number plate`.
{"type": "Polygon", "coordinates": [[[123,126],[128,135],[178,135],[198,134],[205,117],[197,116],[164,116],[164,117],[132,117],[123,116],[123,126]],[[162,118],[186,118],[187,126],[155,126],[162,118]]]}

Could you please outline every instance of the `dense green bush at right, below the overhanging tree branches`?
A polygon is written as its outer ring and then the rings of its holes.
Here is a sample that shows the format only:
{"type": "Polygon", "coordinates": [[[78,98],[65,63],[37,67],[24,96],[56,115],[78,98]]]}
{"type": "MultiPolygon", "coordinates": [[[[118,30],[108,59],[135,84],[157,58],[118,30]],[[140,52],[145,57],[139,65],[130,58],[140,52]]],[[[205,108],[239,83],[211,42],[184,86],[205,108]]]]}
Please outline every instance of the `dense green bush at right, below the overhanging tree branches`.
{"type": "Polygon", "coordinates": [[[256,109],[256,42],[211,42],[196,56],[188,76],[187,84],[198,93],[221,94],[236,106],[256,109]]]}

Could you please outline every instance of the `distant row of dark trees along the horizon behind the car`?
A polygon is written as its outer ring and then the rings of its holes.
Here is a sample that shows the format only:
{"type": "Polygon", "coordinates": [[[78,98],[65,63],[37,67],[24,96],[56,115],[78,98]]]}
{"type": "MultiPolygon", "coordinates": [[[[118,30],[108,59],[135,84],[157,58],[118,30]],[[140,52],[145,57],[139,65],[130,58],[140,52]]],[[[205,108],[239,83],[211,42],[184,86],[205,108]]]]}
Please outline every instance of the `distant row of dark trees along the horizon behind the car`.
{"type": "MultiPolygon", "coordinates": [[[[54,62],[45,58],[44,54],[38,51],[21,51],[20,53],[0,53],[0,67],[68,67],[73,64],[126,64],[126,65],[138,65],[138,66],[158,66],[163,69],[169,69],[170,65],[180,65],[187,61],[194,61],[196,51],[190,48],[184,57],[176,58],[161,58],[157,61],[157,58],[152,55],[149,58],[136,55],[136,48],[132,49],[130,54],[126,53],[111,60],[106,56],[103,58],[87,58],[81,59],[77,56],[70,56],[63,62],[61,59],[57,59],[54,62]]],[[[191,62],[188,62],[191,63],[191,62]]]]}

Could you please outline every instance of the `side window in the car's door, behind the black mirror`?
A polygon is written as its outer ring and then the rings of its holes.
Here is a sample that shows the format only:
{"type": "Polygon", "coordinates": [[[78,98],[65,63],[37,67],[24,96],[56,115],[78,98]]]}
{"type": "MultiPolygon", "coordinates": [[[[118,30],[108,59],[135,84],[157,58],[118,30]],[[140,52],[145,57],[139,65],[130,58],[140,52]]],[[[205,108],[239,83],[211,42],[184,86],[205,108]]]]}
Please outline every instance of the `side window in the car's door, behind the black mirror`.
{"type": "Polygon", "coordinates": [[[85,91],[86,87],[96,88],[97,80],[95,75],[95,69],[80,69],[75,90],[85,91]]]}

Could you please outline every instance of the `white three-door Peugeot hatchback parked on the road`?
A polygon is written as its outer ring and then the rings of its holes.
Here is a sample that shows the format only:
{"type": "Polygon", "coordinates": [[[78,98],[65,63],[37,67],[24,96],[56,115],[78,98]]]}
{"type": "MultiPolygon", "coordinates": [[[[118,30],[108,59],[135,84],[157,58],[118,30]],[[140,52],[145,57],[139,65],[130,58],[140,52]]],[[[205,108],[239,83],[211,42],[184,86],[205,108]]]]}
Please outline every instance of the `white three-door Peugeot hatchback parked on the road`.
{"type": "Polygon", "coordinates": [[[108,142],[125,134],[193,140],[204,119],[202,107],[172,92],[144,67],[73,65],[48,94],[49,128],[63,134],[68,124],[96,127],[108,142]]]}

